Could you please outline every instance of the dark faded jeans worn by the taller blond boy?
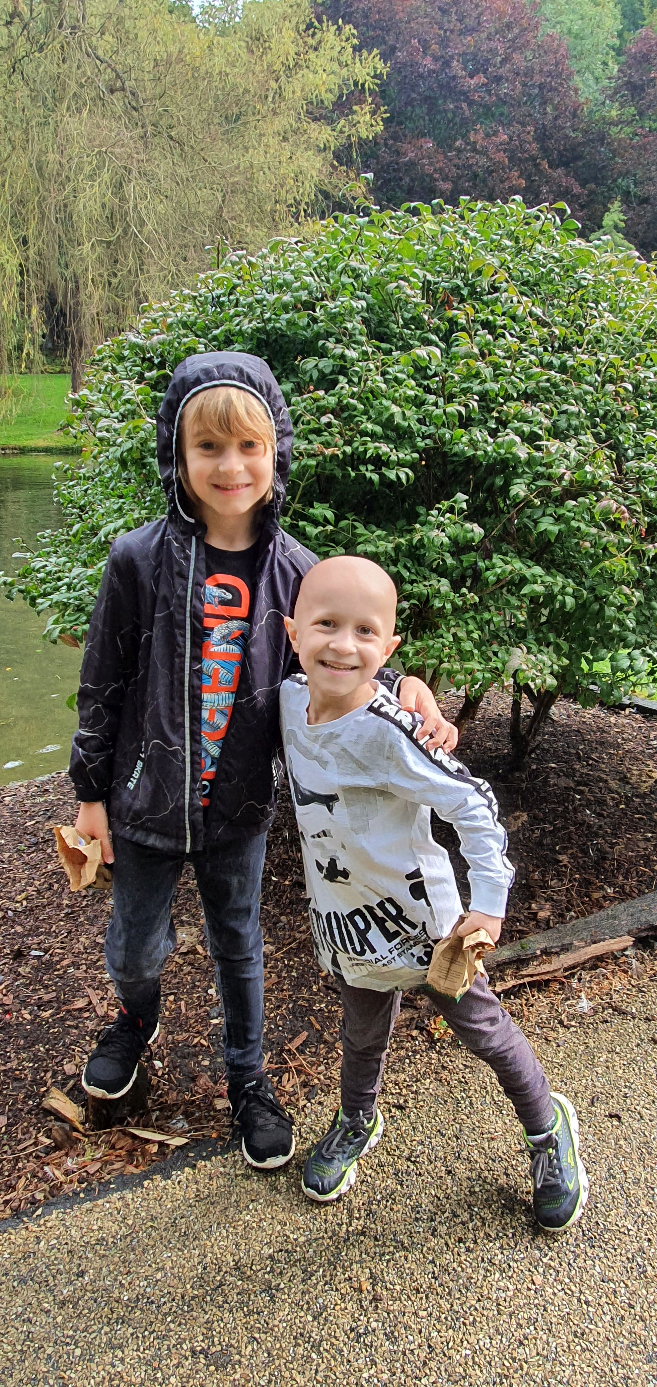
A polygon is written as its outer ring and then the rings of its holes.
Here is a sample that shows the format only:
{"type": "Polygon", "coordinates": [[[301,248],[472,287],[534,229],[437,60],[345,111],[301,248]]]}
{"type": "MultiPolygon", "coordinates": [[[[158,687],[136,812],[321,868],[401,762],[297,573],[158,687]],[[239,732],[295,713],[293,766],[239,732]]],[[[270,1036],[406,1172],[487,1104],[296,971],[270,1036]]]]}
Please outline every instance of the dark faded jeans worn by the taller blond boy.
{"type": "MultiPolygon", "coordinates": [[[[114,910],[105,939],[107,971],[128,1011],[154,999],[164,964],[176,946],[170,918],[186,857],[141,847],[112,835],[114,910]]],[[[243,834],[190,853],[205,915],[205,939],[215,963],[225,1015],[229,1080],[262,1072],[263,972],[261,879],[266,834],[243,834]]]]}

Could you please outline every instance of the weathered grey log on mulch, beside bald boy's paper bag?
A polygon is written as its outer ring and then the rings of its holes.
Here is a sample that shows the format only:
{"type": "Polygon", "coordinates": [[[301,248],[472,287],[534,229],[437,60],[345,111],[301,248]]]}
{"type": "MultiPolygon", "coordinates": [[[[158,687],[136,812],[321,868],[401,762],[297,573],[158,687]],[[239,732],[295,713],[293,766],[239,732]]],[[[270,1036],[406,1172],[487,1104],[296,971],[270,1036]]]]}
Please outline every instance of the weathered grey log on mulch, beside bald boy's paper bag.
{"type": "Polygon", "coordinates": [[[510,963],[520,960],[539,958],[542,954],[560,953],[568,946],[585,947],[607,939],[618,939],[620,935],[631,935],[640,939],[642,935],[657,933],[657,890],[638,900],[624,900],[608,910],[596,911],[595,915],[584,915],[581,920],[568,920],[564,925],[554,925],[553,929],[543,929],[536,935],[527,935],[513,945],[503,945],[487,958],[487,972],[505,968],[510,963]]]}

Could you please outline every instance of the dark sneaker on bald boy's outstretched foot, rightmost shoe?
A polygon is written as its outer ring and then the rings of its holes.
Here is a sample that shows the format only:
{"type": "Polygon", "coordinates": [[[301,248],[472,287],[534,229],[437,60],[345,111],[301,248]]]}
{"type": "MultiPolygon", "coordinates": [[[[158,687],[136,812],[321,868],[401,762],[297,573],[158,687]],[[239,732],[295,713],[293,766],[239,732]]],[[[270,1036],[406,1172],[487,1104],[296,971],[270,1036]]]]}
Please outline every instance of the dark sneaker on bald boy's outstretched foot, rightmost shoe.
{"type": "Polygon", "coordinates": [[[579,1122],[572,1103],[553,1093],[554,1126],[546,1136],[524,1132],[531,1151],[534,1212],[548,1233],[572,1227],[589,1197],[589,1178],[579,1160],[579,1122]]]}

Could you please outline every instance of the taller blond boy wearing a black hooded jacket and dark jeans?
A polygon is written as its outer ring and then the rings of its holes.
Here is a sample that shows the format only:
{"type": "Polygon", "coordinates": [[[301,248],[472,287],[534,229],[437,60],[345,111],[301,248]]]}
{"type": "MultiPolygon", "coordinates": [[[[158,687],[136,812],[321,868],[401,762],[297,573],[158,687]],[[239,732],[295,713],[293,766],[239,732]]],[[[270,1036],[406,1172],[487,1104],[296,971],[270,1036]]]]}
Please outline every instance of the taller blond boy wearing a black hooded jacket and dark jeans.
{"type": "MultiPolygon", "coordinates": [[[[283,616],[316,562],[279,523],[291,447],[266,362],[207,352],[176,368],[158,413],[168,512],[110,552],[69,770],[82,802],[76,827],[114,861],[105,961],[121,1001],[83,1086],[122,1097],[158,1033],[172,903],[189,860],[223,1003],[233,1119],[245,1160],[262,1169],[294,1151],[291,1118],[263,1072],[259,927],[279,689],[294,667],[283,616]]],[[[426,685],[405,680],[401,695],[427,714],[435,742],[455,743],[426,685]]]]}

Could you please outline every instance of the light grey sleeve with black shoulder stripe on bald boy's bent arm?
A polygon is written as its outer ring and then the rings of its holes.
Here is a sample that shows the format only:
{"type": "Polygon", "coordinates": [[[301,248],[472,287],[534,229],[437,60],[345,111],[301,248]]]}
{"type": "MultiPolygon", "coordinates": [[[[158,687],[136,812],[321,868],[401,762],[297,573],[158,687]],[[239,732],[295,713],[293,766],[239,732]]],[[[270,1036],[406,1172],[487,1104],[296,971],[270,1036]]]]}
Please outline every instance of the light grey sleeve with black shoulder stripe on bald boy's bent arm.
{"type": "MultiPolygon", "coordinates": [[[[420,718],[413,718],[413,728],[420,718]]],[[[477,779],[455,756],[427,752],[413,731],[389,728],[388,789],[414,804],[427,804],[452,824],[470,865],[470,910],[503,915],[514,870],[506,856],[506,831],[487,781],[477,779]]]]}

